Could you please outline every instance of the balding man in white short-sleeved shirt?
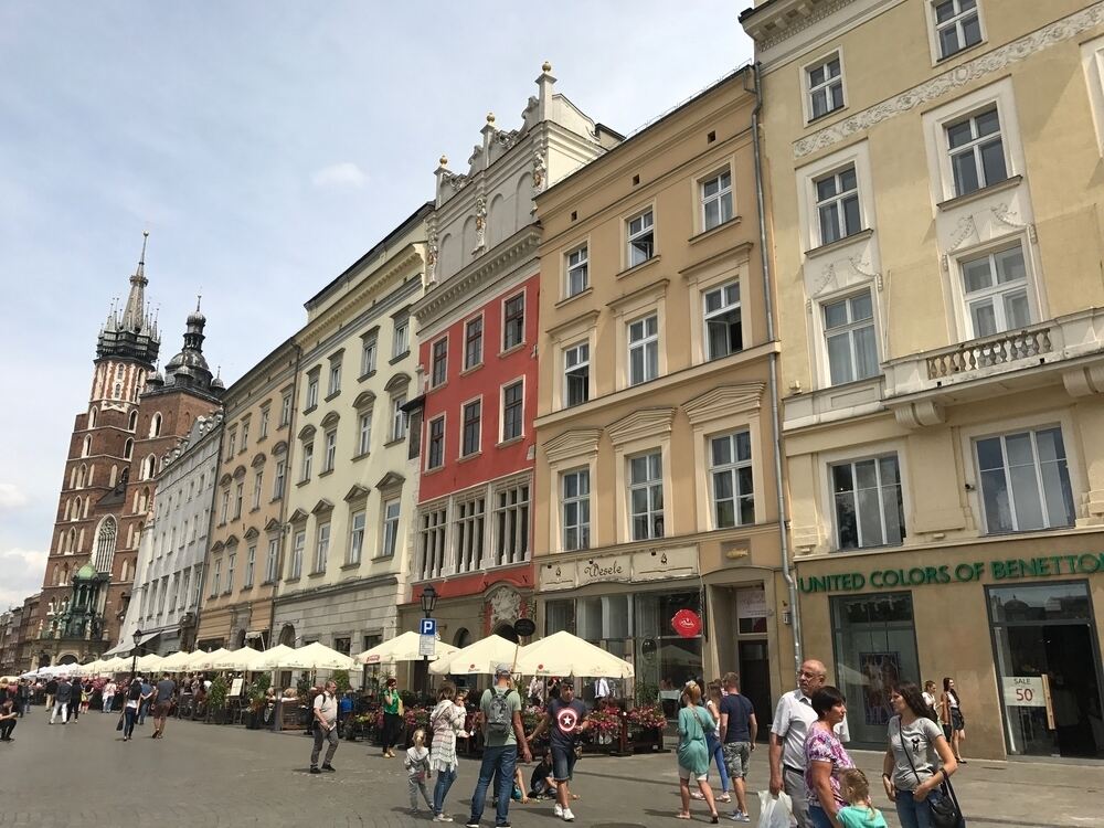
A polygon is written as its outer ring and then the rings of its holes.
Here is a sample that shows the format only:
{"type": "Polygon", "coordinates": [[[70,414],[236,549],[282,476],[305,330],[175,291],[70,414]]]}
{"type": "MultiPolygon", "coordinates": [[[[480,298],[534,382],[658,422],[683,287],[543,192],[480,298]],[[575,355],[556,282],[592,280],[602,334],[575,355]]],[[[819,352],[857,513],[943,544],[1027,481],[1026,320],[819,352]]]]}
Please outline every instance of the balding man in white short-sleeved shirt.
{"type": "MultiPolygon", "coordinates": [[[[809,725],[817,720],[813,710],[814,693],[822,688],[828,670],[816,659],[802,664],[797,673],[797,689],[783,693],[774,711],[771,725],[771,794],[785,790],[794,800],[794,818],[800,828],[814,828],[809,821],[809,806],[805,790],[805,736],[809,725]]],[[[836,725],[841,742],[850,741],[845,719],[836,725]]]]}

